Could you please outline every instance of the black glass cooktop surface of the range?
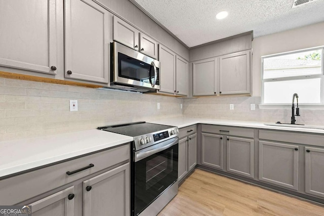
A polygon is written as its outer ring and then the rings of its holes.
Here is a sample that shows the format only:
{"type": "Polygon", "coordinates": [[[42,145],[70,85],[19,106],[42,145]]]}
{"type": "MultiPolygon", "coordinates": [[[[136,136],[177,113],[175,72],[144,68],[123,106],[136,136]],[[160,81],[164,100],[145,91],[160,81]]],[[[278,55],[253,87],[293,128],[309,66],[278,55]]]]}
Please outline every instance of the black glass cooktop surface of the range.
{"type": "Polygon", "coordinates": [[[146,122],[135,122],[130,124],[98,127],[98,129],[135,137],[147,133],[157,132],[160,130],[167,130],[173,127],[174,126],[159,125],[159,124],[152,124],[146,122]]]}

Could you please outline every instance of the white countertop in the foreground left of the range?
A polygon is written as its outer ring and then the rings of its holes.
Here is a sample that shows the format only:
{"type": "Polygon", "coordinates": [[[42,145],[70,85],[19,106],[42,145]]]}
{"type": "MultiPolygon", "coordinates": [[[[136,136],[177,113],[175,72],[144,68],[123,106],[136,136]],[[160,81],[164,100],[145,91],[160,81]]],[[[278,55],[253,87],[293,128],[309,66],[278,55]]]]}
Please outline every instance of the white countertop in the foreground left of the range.
{"type": "Polygon", "coordinates": [[[133,141],[133,137],[102,130],[0,142],[0,177],[133,141]]]}

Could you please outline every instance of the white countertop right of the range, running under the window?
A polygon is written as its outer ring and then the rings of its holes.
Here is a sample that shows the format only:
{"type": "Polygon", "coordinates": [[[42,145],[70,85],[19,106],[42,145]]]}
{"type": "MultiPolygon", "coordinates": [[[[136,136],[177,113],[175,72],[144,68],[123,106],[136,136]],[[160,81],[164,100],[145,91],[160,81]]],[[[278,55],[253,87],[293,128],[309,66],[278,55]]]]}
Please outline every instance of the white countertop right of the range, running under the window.
{"type": "Polygon", "coordinates": [[[264,125],[265,122],[250,122],[250,121],[238,121],[238,120],[202,119],[202,118],[200,119],[200,118],[184,118],[184,117],[182,117],[182,118],[172,118],[172,119],[163,119],[163,120],[158,120],[158,121],[152,121],[151,123],[177,126],[179,128],[187,127],[190,125],[200,123],[200,124],[213,124],[213,125],[224,125],[224,126],[250,127],[250,128],[260,128],[260,129],[298,131],[298,132],[324,134],[323,129],[270,126],[270,125],[264,125]]]}

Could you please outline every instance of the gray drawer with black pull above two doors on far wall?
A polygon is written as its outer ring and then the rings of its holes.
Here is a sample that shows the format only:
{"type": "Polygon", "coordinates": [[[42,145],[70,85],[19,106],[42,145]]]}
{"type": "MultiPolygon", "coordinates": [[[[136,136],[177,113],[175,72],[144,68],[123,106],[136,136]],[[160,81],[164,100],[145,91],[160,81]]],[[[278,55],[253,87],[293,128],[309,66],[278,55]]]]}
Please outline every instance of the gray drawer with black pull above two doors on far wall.
{"type": "Polygon", "coordinates": [[[254,137],[254,130],[248,128],[226,127],[218,125],[201,125],[202,132],[219,133],[231,136],[254,137]]]}

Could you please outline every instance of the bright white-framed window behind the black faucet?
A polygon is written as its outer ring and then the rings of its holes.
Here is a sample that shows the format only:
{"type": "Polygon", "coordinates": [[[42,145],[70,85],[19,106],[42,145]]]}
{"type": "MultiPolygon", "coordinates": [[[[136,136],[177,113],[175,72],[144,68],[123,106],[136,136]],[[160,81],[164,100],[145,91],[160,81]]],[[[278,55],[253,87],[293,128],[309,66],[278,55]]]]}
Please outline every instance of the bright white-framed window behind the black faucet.
{"type": "Polygon", "coordinates": [[[291,105],[294,93],[302,106],[324,105],[323,50],[262,56],[262,105],[291,105]]]}

